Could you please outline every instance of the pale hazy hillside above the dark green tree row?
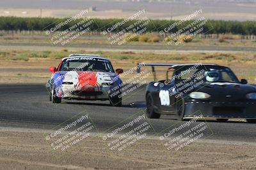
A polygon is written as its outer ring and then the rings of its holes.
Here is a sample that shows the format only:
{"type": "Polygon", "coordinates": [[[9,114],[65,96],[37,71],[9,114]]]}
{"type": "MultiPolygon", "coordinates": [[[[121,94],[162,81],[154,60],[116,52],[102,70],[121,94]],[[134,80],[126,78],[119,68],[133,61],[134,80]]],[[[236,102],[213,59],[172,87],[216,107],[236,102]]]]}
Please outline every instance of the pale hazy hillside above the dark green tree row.
{"type": "Polygon", "coordinates": [[[200,8],[214,20],[256,18],[255,0],[1,0],[0,16],[61,18],[86,8],[97,18],[123,18],[143,8],[154,19],[179,19],[200,8]]]}

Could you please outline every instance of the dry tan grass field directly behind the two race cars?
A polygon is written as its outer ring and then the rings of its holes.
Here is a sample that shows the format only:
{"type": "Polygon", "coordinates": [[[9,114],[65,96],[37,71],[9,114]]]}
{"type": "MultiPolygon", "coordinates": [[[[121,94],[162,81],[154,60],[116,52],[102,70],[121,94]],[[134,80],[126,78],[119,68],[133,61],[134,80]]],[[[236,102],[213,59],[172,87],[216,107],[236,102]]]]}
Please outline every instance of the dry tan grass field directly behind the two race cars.
{"type": "MultiPolygon", "coordinates": [[[[145,63],[212,63],[231,67],[239,78],[256,83],[256,53],[157,53],[157,52],[68,52],[61,51],[6,51],[0,52],[1,76],[0,83],[45,83],[51,76],[50,66],[58,66],[61,58],[70,53],[94,53],[111,59],[113,67],[124,71],[136,66],[138,62],[145,63]]],[[[150,67],[143,67],[150,69],[150,67]]],[[[156,67],[157,79],[165,76],[167,67],[156,67]]],[[[136,74],[136,73],[134,73],[136,74]]],[[[128,77],[127,77],[128,78],[128,77]]],[[[125,79],[125,77],[124,77],[125,79]]],[[[148,78],[152,81],[153,77],[148,78]]]]}

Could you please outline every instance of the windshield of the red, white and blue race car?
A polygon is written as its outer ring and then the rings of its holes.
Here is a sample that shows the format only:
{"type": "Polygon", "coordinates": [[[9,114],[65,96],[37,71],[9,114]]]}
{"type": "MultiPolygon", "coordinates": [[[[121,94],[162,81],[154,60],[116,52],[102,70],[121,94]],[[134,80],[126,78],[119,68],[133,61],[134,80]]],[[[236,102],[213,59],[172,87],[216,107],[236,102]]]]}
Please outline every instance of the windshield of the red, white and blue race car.
{"type": "Polygon", "coordinates": [[[108,60],[92,57],[76,57],[63,60],[59,71],[102,71],[114,73],[108,60]]]}

